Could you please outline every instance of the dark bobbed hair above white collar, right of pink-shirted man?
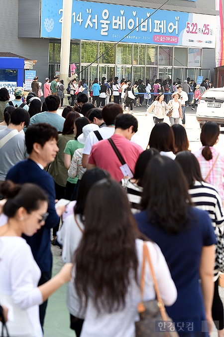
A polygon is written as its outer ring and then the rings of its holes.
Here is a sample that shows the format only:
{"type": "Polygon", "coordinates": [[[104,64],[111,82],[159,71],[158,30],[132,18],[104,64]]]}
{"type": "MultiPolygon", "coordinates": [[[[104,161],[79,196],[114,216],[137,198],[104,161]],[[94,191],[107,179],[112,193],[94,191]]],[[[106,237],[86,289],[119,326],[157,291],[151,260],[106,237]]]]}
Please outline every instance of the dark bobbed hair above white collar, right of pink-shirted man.
{"type": "Polygon", "coordinates": [[[160,151],[175,151],[173,129],[167,123],[155,124],[149,137],[149,147],[160,151]]]}

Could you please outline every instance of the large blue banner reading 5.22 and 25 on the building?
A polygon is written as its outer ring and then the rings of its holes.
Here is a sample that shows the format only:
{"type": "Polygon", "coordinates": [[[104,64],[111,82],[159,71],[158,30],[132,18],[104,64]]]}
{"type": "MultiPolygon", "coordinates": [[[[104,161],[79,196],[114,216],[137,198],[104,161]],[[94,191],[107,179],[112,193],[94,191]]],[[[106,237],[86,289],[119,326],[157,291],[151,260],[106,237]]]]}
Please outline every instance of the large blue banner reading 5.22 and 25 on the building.
{"type": "MultiPolygon", "coordinates": [[[[42,0],[41,37],[61,38],[62,5],[62,0],[42,0]]],[[[122,42],[215,48],[215,15],[154,11],[73,0],[71,38],[117,42],[125,36],[122,42]]]]}

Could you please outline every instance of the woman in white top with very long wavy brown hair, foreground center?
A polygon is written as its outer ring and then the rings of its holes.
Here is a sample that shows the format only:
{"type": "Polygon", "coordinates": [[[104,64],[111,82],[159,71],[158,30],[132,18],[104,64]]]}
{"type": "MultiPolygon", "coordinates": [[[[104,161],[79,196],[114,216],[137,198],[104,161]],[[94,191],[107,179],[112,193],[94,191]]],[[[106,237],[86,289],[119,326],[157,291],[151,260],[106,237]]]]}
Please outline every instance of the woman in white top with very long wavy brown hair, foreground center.
{"type": "MultiPolygon", "coordinates": [[[[82,337],[134,337],[140,301],[143,241],[123,188],[112,179],[90,189],[84,210],[83,236],[74,256],[75,286],[87,307],[82,337]]],[[[176,289],[158,246],[147,242],[155,276],[166,305],[176,300],[176,289]]],[[[144,300],[155,292],[148,265],[144,300]]]]}

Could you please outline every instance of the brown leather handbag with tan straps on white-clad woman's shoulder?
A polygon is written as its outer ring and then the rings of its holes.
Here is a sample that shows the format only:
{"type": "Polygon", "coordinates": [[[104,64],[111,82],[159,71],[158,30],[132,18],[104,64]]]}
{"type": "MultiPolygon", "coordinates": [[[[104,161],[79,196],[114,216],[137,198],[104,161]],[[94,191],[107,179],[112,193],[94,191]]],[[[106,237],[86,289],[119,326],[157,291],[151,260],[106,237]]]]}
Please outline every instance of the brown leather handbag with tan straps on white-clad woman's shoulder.
{"type": "Polygon", "coordinates": [[[135,323],[136,337],[179,337],[171,318],[168,317],[161,299],[158,284],[155,278],[151,258],[149,255],[146,242],[143,244],[143,262],[141,272],[141,302],[138,304],[138,312],[140,314],[140,321],[135,323]],[[148,260],[151,276],[155,288],[156,299],[150,301],[143,301],[144,285],[145,285],[145,261],[148,260]],[[159,331],[158,322],[163,323],[163,331],[159,331]],[[169,323],[164,324],[166,321],[169,323]]]}

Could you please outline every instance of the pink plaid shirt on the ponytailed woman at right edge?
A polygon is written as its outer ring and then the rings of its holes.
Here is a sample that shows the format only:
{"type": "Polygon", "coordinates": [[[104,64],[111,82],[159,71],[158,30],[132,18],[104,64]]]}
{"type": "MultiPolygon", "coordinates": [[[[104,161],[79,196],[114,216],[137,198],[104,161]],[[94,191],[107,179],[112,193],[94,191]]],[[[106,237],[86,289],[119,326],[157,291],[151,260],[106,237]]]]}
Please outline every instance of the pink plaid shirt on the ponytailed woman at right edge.
{"type": "MultiPolygon", "coordinates": [[[[197,152],[194,153],[195,157],[197,158],[203,179],[206,178],[207,174],[209,173],[210,169],[212,169],[213,164],[215,160],[217,159],[217,156],[219,155],[219,152],[213,148],[210,147],[213,158],[210,161],[205,160],[205,158],[202,156],[202,150],[204,149],[204,146],[197,152]]],[[[217,162],[212,169],[210,175],[207,178],[207,182],[216,186],[218,189],[221,198],[224,200],[224,184],[223,184],[223,177],[224,177],[224,155],[220,154],[219,158],[217,159],[217,162]]]]}

